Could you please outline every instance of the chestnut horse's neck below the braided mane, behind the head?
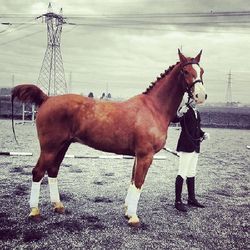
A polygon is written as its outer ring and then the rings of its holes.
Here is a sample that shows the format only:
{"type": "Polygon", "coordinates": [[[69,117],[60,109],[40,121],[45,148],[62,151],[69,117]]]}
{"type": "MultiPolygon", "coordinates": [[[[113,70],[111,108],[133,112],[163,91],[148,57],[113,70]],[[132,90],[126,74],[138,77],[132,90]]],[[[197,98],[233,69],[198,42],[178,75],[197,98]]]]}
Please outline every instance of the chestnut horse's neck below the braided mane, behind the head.
{"type": "Polygon", "coordinates": [[[150,93],[151,97],[155,99],[154,103],[157,108],[170,120],[176,115],[184,95],[179,82],[179,71],[180,65],[176,65],[168,75],[159,80],[160,82],[150,93]]]}

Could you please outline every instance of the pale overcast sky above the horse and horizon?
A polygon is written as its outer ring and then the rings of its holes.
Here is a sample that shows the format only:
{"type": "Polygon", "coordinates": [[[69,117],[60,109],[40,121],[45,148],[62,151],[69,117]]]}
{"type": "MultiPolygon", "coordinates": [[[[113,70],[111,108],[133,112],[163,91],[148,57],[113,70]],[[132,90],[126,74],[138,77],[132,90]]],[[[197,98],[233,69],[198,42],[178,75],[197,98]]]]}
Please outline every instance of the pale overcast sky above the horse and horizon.
{"type": "MultiPolygon", "coordinates": [[[[47,7],[0,0],[0,87],[36,83],[47,31],[35,17],[47,7]]],[[[233,101],[250,103],[249,1],[61,0],[52,7],[67,17],[61,53],[71,92],[131,97],[178,61],[178,48],[187,56],[203,49],[208,101],[225,101],[231,71],[233,101]]]]}

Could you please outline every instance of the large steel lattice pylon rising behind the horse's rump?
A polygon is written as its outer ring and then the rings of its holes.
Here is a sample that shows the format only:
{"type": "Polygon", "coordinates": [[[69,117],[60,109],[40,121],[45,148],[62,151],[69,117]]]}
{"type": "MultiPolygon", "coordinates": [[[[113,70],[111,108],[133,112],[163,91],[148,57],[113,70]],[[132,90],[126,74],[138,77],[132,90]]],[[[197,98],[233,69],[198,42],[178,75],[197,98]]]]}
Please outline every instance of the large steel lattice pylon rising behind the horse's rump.
{"type": "Polygon", "coordinates": [[[45,20],[47,24],[47,49],[37,85],[48,95],[65,94],[68,92],[68,88],[60,49],[62,25],[65,23],[62,8],[60,14],[55,14],[49,3],[48,12],[37,17],[37,19],[39,18],[45,20]]]}

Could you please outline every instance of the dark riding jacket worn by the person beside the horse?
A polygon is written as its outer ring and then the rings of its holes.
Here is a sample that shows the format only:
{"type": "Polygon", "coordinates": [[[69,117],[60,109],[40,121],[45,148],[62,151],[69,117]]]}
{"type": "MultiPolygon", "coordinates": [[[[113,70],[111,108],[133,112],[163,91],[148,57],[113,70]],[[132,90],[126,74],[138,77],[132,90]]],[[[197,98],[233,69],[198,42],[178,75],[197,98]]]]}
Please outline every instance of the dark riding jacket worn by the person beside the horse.
{"type": "Polygon", "coordinates": [[[178,152],[197,152],[200,153],[200,143],[203,138],[204,132],[200,127],[200,114],[197,112],[197,118],[195,116],[195,111],[188,107],[186,113],[181,117],[177,117],[173,122],[180,122],[181,124],[181,134],[177,144],[178,152]]]}

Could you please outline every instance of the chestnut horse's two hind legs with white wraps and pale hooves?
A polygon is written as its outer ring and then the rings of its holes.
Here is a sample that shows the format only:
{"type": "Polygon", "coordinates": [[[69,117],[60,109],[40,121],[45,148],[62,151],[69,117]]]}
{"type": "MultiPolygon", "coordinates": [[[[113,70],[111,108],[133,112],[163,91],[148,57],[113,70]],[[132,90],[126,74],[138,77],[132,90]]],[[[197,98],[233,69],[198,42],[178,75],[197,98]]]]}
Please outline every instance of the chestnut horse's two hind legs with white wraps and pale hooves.
{"type": "Polygon", "coordinates": [[[29,215],[31,218],[40,216],[40,211],[38,208],[40,185],[46,171],[48,172],[49,178],[51,178],[49,179],[49,186],[50,186],[50,191],[52,190],[50,193],[51,197],[53,197],[54,199],[55,211],[56,212],[64,211],[63,205],[60,202],[59,198],[56,178],[60,164],[64,158],[64,155],[68,147],[69,144],[63,145],[61,149],[59,149],[58,151],[54,152],[47,152],[43,150],[41,151],[38,162],[32,171],[33,181],[31,186],[31,195],[30,195],[31,213],[29,215]]]}

